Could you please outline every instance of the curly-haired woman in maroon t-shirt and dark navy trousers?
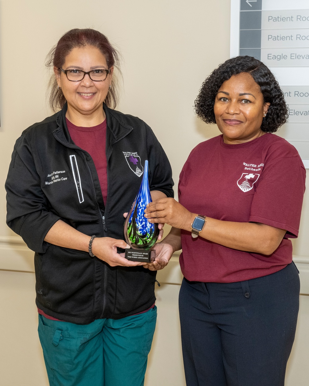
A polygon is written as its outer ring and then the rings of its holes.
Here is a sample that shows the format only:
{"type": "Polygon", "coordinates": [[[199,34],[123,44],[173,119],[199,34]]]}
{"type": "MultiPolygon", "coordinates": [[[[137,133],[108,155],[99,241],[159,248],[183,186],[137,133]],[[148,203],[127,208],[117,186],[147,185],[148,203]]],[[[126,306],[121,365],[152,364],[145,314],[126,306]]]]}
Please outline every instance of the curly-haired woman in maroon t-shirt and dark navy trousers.
{"type": "Polygon", "coordinates": [[[287,120],[284,95],[265,64],[238,56],[204,81],[195,109],[222,135],[190,153],[179,203],[159,199],[145,213],[173,227],[158,250],[182,248],[187,385],[283,386],[299,309],[290,239],[305,190],[296,149],[271,134],[287,120]]]}

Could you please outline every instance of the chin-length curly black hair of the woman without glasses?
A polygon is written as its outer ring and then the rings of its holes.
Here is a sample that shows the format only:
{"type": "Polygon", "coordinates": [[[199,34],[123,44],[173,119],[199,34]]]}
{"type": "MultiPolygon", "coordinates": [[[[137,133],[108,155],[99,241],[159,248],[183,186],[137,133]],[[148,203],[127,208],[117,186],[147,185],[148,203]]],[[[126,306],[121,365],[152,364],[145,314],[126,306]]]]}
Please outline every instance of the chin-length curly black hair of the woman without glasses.
{"type": "Polygon", "coordinates": [[[220,64],[203,82],[195,100],[195,112],[206,123],[216,123],[214,102],[222,83],[232,75],[249,73],[260,86],[264,102],[270,103],[267,116],[263,118],[261,130],[274,133],[287,122],[289,108],[275,76],[260,60],[252,56],[236,56],[220,64]]]}

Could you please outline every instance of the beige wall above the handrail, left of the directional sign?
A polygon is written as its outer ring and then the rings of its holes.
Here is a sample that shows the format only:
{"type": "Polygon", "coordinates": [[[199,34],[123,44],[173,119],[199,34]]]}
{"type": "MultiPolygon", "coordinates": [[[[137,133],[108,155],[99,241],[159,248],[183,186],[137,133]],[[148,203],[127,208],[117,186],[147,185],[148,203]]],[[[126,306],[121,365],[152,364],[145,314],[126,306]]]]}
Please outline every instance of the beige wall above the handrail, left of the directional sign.
{"type": "MultiPolygon", "coordinates": [[[[1,181],[22,130],[51,114],[44,59],[76,27],[98,29],[119,47],[124,78],[119,110],[153,128],[177,182],[190,150],[215,132],[200,123],[192,105],[207,74],[229,56],[229,0],[1,1],[1,181]]],[[[0,235],[13,235],[4,221],[3,184],[0,205],[0,235]]]]}

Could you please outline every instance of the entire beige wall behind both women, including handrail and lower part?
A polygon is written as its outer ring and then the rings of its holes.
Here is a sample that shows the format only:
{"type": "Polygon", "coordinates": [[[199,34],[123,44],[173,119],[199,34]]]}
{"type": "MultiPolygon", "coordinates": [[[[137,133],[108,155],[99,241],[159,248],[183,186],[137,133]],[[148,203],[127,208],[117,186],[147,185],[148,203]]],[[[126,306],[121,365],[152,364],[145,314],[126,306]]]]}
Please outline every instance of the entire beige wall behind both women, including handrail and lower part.
{"type": "MultiPolygon", "coordinates": [[[[229,3],[229,0],[0,1],[0,383],[3,386],[47,385],[36,334],[33,253],[5,224],[3,188],[15,140],[26,127],[50,115],[45,100],[47,52],[61,34],[74,27],[98,29],[117,44],[123,56],[124,78],[119,110],[139,116],[153,128],[171,161],[177,184],[191,149],[219,134],[216,126],[197,119],[193,104],[205,77],[229,57],[229,3]]],[[[304,294],[309,294],[308,212],[307,198],[300,238],[294,242],[304,294]]],[[[166,284],[157,289],[158,328],[149,357],[146,386],[185,384],[177,316],[181,281],[177,261],[177,256],[173,257],[169,267],[159,274],[160,281],[166,284]]],[[[288,386],[305,386],[309,376],[304,366],[309,345],[308,299],[302,296],[301,323],[289,364],[288,386]]]]}

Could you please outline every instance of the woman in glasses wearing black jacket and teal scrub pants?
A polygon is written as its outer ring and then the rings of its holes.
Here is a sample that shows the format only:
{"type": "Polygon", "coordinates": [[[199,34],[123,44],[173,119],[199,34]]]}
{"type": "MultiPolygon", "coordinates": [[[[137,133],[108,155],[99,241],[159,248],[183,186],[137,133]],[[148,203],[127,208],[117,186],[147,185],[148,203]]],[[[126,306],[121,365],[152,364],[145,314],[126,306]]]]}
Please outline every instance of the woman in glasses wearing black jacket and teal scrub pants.
{"type": "Polygon", "coordinates": [[[122,256],[123,215],[146,159],[152,198],[173,196],[170,164],[145,122],[114,110],[119,58],[103,34],[70,30],[48,59],[51,107],[60,111],[17,139],[6,189],[7,223],[36,252],[49,382],[142,386],[156,276],[122,256]]]}

